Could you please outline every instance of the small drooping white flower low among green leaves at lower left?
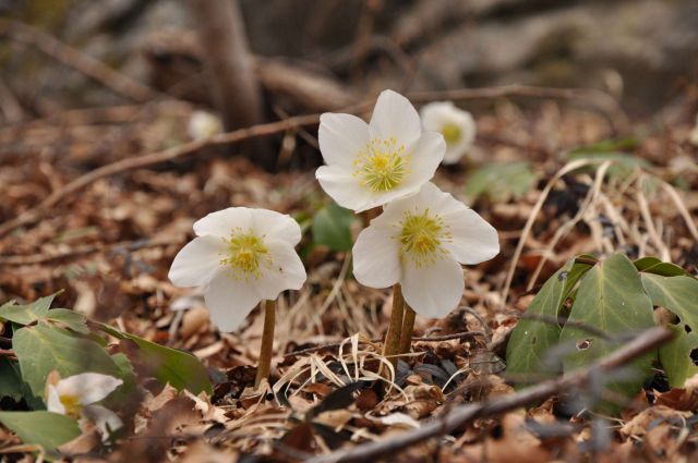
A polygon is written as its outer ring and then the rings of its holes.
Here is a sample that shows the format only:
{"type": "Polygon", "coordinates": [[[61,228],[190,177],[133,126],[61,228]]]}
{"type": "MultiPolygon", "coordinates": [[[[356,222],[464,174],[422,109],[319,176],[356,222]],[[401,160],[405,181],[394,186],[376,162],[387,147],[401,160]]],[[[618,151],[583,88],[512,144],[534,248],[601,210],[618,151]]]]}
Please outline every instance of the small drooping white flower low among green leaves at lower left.
{"type": "Polygon", "coordinates": [[[88,419],[105,438],[123,426],[116,413],[96,404],[121,386],[121,379],[99,373],[83,373],[56,379],[57,376],[49,376],[46,385],[46,409],[49,412],[81,421],[88,419]]]}

